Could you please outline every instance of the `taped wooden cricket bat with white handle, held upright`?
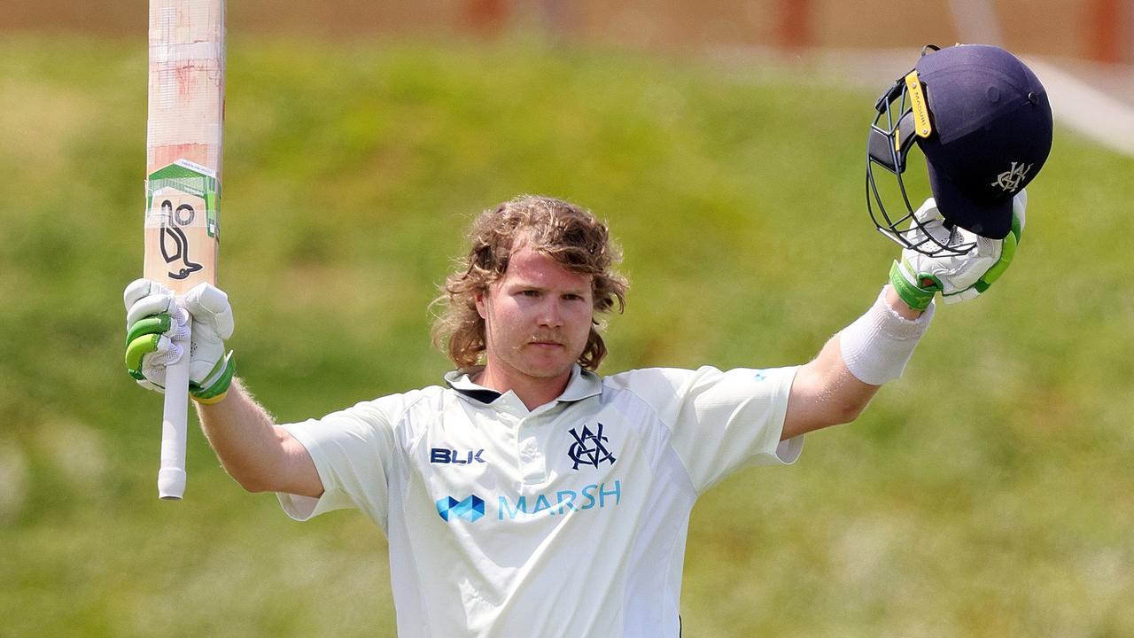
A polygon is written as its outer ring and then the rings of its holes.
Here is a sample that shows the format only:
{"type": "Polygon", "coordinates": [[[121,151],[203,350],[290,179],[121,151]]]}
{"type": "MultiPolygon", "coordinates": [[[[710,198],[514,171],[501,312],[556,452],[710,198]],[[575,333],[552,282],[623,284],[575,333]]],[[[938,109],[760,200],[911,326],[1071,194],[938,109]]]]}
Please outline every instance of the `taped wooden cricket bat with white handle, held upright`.
{"type": "MultiPolygon", "coordinates": [[[[150,0],[144,275],[178,303],[193,286],[217,284],[223,123],[225,0],[150,0]]],[[[158,471],[166,500],[185,494],[189,335],[181,343],[166,370],[158,471]]]]}

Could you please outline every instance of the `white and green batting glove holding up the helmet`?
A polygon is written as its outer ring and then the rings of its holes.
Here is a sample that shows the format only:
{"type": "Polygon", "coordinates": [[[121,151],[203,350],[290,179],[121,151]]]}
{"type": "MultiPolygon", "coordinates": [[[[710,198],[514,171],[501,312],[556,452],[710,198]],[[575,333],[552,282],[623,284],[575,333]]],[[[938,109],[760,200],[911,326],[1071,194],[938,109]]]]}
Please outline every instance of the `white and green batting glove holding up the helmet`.
{"type": "MultiPolygon", "coordinates": [[[[941,245],[964,246],[974,244],[964,254],[929,257],[912,249],[902,251],[902,260],[890,268],[890,284],[902,301],[915,310],[925,310],[937,293],[946,303],[967,301],[980,296],[1012,265],[1016,246],[1024,232],[1027,193],[1021,191],[1012,201],[1012,230],[1004,240],[989,240],[959,226],[945,227],[945,219],[937,210],[933,198],[914,215],[929,234],[941,245]]],[[[912,242],[925,238],[921,229],[912,233],[912,242]]]]}

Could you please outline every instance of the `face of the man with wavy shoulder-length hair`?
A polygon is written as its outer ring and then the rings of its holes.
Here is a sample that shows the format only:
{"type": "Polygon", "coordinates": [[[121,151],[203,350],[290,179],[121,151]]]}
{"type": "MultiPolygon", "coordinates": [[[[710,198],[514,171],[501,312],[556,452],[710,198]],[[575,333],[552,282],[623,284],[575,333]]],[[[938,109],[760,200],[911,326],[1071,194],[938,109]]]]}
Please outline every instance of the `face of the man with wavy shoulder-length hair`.
{"type": "Polygon", "coordinates": [[[591,279],[526,245],[513,253],[505,276],[476,297],[491,373],[566,383],[591,330],[591,279]]]}

